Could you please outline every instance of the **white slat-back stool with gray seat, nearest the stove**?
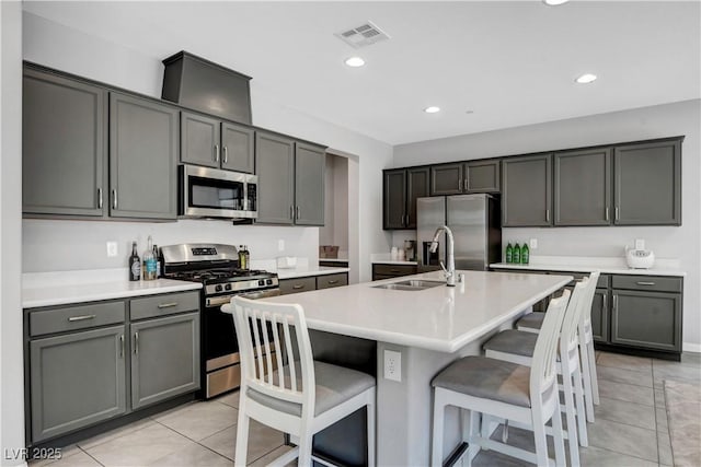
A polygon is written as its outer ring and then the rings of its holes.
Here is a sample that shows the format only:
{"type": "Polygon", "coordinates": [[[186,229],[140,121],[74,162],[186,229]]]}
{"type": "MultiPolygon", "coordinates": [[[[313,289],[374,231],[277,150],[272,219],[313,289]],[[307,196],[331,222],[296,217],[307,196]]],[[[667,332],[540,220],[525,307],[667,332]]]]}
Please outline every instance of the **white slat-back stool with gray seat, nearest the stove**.
{"type": "Polygon", "coordinates": [[[366,407],[368,465],[374,466],[375,377],[313,361],[300,305],[235,296],[221,310],[233,315],[241,353],[234,464],[246,464],[250,419],[299,439],[295,450],[271,465],[284,466],[298,458],[298,465],[309,466],[314,433],[366,407]],[[290,360],[299,355],[299,361],[284,364],[284,355],[290,360]],[[277,370],[267,371],[274,364],[277,370]]]}

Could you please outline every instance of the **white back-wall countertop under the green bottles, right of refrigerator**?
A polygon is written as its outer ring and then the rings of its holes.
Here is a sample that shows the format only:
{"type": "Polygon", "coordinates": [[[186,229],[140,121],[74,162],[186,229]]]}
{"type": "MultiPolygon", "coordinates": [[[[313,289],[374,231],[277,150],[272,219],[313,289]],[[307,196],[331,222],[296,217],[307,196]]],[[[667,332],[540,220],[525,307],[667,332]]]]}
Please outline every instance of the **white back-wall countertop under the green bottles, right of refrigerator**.
{"type": "Polygon", "coordinates": [[[494,269],[538,270],[538,271],[571,271],[590,272],[598,270],[610,275],[632,276],[676,276],[685,277],[687,272],[679,269],[676,259],[659,258],[655,260],[655,267],[651,269],[631,269],[624,258],[607,257],[568,257],[568,256],[540,256],[531,255],[528,265],[515,265],[510,262],[495,262],[490,265],[494,269]]]}

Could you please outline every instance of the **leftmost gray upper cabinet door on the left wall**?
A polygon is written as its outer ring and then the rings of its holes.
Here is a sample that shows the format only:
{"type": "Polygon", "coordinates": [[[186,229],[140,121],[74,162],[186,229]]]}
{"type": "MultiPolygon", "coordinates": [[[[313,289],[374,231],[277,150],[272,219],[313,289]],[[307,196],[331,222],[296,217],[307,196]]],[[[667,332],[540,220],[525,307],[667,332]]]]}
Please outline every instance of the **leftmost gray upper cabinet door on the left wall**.
{"type": "Polygon", "coordinates": [[[103,215],[106,95],[96,86],[25,69],[22,91],[25,213],[103,215]]]}

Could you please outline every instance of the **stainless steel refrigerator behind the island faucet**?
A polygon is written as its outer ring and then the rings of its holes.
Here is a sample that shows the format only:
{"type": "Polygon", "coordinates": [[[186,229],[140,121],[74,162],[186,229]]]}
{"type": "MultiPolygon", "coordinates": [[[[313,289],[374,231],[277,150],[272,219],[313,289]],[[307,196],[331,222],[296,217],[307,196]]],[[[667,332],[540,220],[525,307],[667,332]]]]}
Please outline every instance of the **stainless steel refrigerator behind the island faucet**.
{"type": "Polygon", "coordinates": [[[502,261],[501,205],[490,195],[434,196],[416,200],[416,241],[420,270],[446,264],[446,235],[429,253],[436,229],[448,225],[455,237],[456,269],[487,270],[502,261]]]}

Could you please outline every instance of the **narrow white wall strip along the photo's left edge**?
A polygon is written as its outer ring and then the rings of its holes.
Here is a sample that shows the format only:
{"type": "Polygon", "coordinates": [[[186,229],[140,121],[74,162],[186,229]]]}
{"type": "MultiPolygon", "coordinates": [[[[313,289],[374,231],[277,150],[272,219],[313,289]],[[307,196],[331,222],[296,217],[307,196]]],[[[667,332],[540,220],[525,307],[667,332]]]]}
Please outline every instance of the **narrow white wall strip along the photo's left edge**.
{"type": "Polygon", "coordinates": [[[0,2],[0,465],[21,465],[22,4],[0,2]]]}

